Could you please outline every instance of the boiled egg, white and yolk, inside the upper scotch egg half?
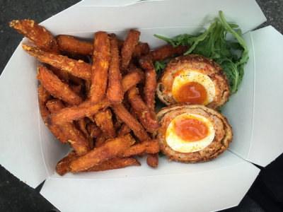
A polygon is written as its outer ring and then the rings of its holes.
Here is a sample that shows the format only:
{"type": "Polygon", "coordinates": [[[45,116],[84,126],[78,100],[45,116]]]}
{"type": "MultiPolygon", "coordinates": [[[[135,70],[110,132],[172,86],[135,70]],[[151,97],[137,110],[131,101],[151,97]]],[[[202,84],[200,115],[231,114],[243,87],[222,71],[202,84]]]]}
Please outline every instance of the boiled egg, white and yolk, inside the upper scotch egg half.
{"type": "Polygon", "coordinates": [[[209,76],[199,71],[183,70],[174,76],[172,95],[178,103],[207,105],[214,99],[215,87],[209,76]]]}

